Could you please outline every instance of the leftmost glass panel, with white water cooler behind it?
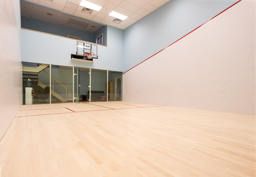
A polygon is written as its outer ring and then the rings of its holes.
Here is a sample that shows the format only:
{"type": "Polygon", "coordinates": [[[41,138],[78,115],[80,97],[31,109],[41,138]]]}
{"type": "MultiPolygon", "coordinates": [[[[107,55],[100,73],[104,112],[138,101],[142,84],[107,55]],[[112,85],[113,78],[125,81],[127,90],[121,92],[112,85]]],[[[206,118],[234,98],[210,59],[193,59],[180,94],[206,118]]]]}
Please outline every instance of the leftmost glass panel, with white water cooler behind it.
{"type": "Polygon", "coordinates": [[[22,62],[23,105],[50,103],[49,65],[22,62]]]}

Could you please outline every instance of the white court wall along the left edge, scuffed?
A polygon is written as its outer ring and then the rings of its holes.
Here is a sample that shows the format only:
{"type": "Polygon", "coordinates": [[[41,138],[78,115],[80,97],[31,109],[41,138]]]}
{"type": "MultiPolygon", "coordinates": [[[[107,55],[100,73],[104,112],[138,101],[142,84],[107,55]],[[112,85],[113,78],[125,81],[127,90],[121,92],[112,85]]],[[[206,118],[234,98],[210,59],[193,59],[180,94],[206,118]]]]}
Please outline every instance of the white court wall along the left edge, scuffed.
{"type": "Polygon", "coordinates": [[[15,11],[20,20],[19,7],[14,8],[13,0],[0,1],[0,139],[22,105],[20,22],[16,23],[15,11]]]}

